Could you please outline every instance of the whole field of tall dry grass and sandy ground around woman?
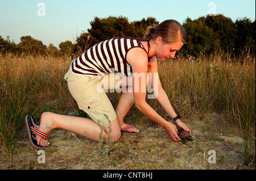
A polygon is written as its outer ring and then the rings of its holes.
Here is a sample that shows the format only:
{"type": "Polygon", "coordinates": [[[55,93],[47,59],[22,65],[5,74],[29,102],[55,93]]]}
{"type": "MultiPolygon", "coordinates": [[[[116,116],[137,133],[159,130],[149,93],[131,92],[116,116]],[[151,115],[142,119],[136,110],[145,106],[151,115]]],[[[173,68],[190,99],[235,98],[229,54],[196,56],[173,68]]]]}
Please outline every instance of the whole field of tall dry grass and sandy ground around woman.
{"type": "MultiPolygon", "coordinates": [[[[142,129],[100,144],[56,129],[46,163],[30,145],[24,117],[42,112],[86,116],[69,94],[71,57],[0,55],[1,169],[255,169],[255,57],[229,54],[159,62],[162,86],[193,141],[172,142],[162,127],[131,108],[125,121],[142,129]],[[209,163],[216,153],[216,163],[209,163]]],[[[121,94],[108,93],[113,106],[121,94]]],[[[161,116],[166,113],[148,99],[161,116]]]]}

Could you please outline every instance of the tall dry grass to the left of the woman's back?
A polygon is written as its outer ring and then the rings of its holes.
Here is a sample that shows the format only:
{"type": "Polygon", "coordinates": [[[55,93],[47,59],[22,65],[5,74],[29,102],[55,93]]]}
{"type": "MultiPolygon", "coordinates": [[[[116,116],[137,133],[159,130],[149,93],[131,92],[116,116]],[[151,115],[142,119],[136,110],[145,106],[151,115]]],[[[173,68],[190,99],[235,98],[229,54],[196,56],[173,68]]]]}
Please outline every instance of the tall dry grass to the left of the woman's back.
{"type": "Polygon", "coordinates": [[[70,107],[63,78],[69,64],[69,58],[0,55],[0,143],[8,158],[28,113],[40,117],[43,111],[64,113],[70,107]]]}

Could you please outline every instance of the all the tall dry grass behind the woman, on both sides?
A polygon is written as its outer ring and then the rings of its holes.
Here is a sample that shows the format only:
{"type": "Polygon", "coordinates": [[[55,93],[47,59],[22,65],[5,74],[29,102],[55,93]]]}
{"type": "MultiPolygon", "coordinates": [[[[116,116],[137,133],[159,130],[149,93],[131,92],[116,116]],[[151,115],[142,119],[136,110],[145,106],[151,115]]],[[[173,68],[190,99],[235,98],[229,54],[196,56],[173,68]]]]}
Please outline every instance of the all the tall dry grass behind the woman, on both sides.
{"type": "MultiPolygon", "coordinates": [[[[71,61],[69,57],[0,55],[0,143],[9,158],[26,114],[79,112],[64,80],[71,61]]],[[[162,86],[177,113],[183,117],[223,113],[226,121],[241,128],[245,164],[255,160],[255,57],[234,60],[216,53],[159,61],[158,66],[162,86]]],[[[108,94],[114,106],[117,94],[108,94]]],[[[158,109],[155,99],[147,101],[158,109]]],[[[141,117],[138,110],[134,112],[141,117]]]]}

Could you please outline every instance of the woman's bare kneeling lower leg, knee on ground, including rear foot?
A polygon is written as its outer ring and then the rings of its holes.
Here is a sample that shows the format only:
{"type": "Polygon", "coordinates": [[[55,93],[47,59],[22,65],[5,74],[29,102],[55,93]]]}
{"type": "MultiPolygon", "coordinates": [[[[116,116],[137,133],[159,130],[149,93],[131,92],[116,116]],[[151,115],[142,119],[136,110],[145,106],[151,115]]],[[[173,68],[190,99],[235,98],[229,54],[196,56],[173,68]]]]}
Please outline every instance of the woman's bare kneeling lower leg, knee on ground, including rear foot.
{"type": "MultiPolygon", "coordinates": [[[[111,123],[112,132],[110,133],[110,139],[115,142],[119,140],[121,136],[118,118],[111,123]]],[[[87,137],[94,141],[100,141],[98,136],[101,133],[100,126],[97,125],[91,119],[84,117],[57,115],[56,113],[44,112],[41,116],[39,130],[49,134],[53,129],[61,128],[67,131],[71,131],[81,136],[87,137]]],[[[109,133],[109,124],[102,127],[102,142],[106,142],[109,133]]],[[[44,140],[40,136],[36,136],[36,141],[39,145],[46,146],[49,144],[48,140],[44,140]]]]}

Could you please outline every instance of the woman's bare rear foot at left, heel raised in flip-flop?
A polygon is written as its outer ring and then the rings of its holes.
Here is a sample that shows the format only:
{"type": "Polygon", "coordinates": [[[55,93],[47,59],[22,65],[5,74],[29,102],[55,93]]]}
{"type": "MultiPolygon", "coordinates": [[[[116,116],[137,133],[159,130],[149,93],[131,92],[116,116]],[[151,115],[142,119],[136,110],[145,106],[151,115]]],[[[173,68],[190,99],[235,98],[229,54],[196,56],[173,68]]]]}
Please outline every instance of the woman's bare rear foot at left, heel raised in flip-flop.
{"type": "MultiPolygon", "coordinates": [[[[41,116],[40,125],[39,125],[39,131],[46,133],[49,135],[49,133],[52,132],[52,120],[50,119],[51,112],[44,112],[41,116]]],[[[36,141],[38,145],[41,146],[47,146],[50,144],[48,140],[44,140],[44,138],[40,137],[39,135],[36,135],[36,141]]]]}

